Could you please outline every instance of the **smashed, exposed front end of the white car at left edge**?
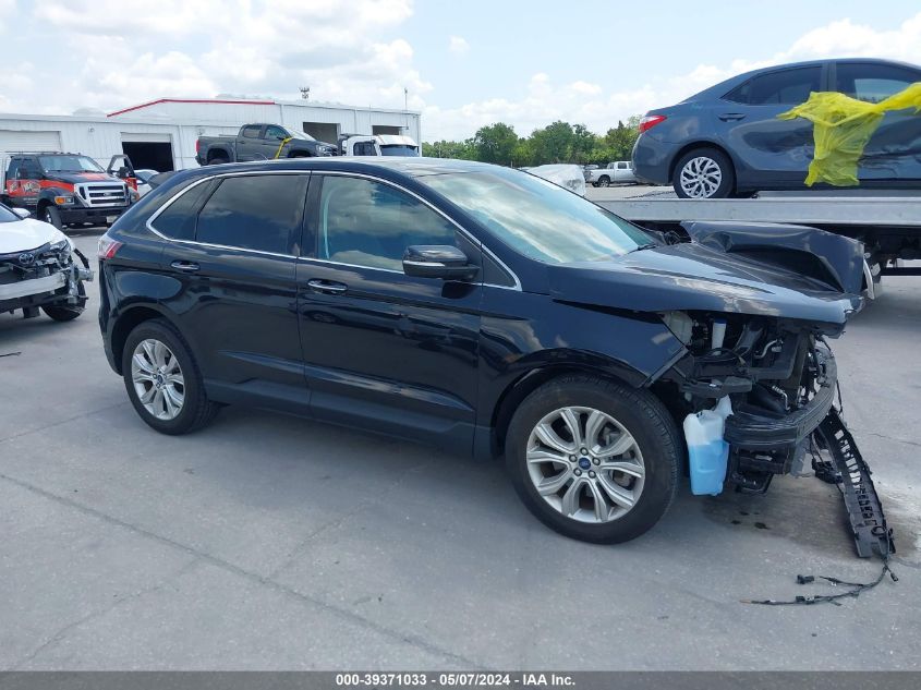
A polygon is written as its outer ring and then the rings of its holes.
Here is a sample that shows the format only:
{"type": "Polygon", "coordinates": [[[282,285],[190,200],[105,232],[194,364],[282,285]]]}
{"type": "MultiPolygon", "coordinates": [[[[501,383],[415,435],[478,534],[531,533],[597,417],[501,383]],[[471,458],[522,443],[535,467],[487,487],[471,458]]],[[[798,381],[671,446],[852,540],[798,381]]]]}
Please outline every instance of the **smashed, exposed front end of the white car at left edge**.
{"type": "Polygon", "coordinates": [[[93,280],[89,262],[66,238],[35,250],[2,254],[0,312],[21,308],[28,318],[37,316],[38,307],[83,308],[83,282],[88,280],[93,280]]]}

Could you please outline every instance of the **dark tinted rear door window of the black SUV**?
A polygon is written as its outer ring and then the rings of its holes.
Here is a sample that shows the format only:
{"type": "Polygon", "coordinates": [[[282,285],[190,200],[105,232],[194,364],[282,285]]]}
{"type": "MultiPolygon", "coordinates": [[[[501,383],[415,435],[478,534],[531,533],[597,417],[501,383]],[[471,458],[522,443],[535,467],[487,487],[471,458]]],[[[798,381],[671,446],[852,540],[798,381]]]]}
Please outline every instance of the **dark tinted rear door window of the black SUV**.
{"type": "Polygon", "coordinates": [[[291,253],[300,233],[307,175],[225,178],[198,214],[195,239],[277,254],[291,253]]]}

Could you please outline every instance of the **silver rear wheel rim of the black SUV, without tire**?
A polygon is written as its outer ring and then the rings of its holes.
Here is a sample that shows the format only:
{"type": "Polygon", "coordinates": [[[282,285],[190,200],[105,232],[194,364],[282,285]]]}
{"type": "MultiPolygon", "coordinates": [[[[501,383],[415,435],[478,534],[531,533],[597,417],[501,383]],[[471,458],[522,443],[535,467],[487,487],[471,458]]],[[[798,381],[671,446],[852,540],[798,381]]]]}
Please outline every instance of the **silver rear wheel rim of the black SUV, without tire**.
{"type": "Polygon", "coordinates": [[[185,402],[179,360],[159,340],[142,340],[131,356],[131,380],[144,409],[158,420],[174,420],[185,402]]]}

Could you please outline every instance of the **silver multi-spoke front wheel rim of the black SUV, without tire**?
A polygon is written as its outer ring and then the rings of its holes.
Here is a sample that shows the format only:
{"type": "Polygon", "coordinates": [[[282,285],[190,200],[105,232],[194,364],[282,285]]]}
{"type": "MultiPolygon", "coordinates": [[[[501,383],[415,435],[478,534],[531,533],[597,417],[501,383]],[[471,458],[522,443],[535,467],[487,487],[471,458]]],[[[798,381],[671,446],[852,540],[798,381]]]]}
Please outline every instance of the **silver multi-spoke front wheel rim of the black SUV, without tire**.
{"type": "Polygon", "coordinates": [[[528,438],[528,474],[558,512],[580,522],[611,522],[643,493],[646,470],[633,436],[593,408],[561,408],[528,438]]]}

